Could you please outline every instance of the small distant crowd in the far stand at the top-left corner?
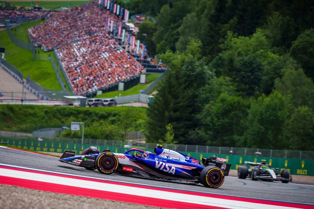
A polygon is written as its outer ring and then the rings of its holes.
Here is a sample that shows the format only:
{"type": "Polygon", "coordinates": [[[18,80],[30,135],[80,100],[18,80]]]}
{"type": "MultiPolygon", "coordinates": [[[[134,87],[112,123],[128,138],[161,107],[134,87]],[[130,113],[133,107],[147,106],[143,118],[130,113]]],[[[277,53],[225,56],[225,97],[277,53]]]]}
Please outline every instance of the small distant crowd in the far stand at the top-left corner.
{"type": "Polygon", "coordinates": [[[34,20],[44,17],[46,12],[25,10],[0,10],[0,19],[34,20]]]}

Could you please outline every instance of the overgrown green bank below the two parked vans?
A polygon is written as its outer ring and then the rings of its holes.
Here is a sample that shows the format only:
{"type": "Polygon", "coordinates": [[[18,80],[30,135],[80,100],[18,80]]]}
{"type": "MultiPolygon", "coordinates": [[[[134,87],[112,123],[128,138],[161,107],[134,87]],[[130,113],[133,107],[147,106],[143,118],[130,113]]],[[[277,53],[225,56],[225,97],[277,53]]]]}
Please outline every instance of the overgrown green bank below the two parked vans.
{"type": "Polygon", "coordinates": [[[129,131],[137,131],[136,123],[146,119],[146,108],[143,107],[0,105],[0,130],[21,133],[32,133],[40,128],[70,127],[72,121],[85,123],[85,131],[87,127],[93,127],[95,123],[101,121],[110,123],[112,127],[109,128],[114,128],[114,126],[121,127],[126,120],[130,122],[129,131]]]}

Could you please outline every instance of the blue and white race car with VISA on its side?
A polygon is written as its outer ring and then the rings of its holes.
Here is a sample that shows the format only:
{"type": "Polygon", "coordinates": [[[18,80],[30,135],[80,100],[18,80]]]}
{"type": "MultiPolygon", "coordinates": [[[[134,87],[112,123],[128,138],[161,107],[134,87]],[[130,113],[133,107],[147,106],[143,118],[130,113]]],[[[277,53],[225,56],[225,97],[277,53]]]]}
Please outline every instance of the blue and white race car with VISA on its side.
{"type": "Polygon", "coordinates": [[[231,164],[227,159],[211,156],[203,158],[202,163],[172,149],[163,149],[157,145],[154,153],[132,148],[125,153],[112,153],[97,147],[90,147],[75,156],[75,152],[65,151],[59,161],[97,169],[101,174],[123,174],[160,180],[179,181],[192,184],[203,184],[206,187],[218,188],[228,176],[231,164]]]}

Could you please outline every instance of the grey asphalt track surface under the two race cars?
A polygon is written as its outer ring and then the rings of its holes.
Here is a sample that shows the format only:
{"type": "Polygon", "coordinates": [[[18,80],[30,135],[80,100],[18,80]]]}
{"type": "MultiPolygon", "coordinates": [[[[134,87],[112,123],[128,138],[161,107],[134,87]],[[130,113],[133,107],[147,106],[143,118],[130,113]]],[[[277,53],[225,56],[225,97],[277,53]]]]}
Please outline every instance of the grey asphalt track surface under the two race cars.
{"type": "Polygon", "coordinates": [[[236,177],[225,177],[225,182],[222,186],[218,189],[210,189],[204,187],[203,185],[189,185],[117,174],[103,175],[97,170],[89,171],[78,166],[62,163],[58,161],[58,158],[56,157],[32,154],[6,148],[0,148],[0,163],[137,184],[201,191],[214,194],[261,198],[275,201],[314,204],[314,185],[293,183],[284,184],[281,182],[252,181],[249,179],[238,179],[236,177]]]}

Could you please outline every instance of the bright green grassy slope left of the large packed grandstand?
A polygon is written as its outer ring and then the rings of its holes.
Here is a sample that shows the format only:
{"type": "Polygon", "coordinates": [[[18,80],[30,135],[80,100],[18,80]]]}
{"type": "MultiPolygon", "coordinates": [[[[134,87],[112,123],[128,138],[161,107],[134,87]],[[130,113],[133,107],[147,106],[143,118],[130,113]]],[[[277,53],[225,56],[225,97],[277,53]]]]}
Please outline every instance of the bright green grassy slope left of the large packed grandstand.
{"type": "MultiPolygon", "coordinates": [[[[25,23],[21,27],[17,27],[16,31],[14,29],[13,34],[15,33],[15,37],[17,39],[26,43],[30,43],[26,33],[27,26],[31,27],[35,24],[40,24],[41,22],[42,21],[39,20],[25,23]]],[[[33,53],[30,50],[26,50],[15,45],[10,39],[6,30],[0,31],[0,46],[6,48],[6,60],[23,73],[24,79],[26,79],[27,75],[30,75],[30,78],[33,81],[39,83],[41,86],[47,89],[62,90],[57,80],[56,73],[52,67],[51,61],[48,60],[49,54],[54,60],[56,59],[52,52],[43,52],[40,48],[37,48],[36,50],[39,50],[40,54],[36,54],[36,60],[33,61],[33,53]]],[[[67,90],[70,90],[62,73],[61,78],[63,79],[67,90]]]]}

